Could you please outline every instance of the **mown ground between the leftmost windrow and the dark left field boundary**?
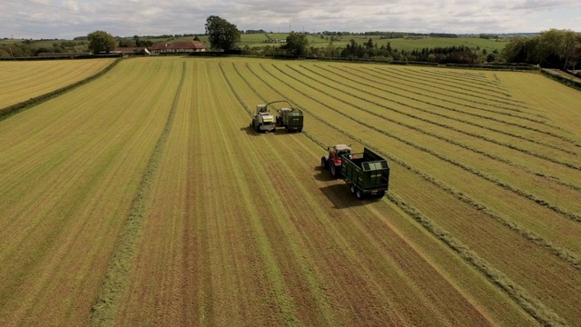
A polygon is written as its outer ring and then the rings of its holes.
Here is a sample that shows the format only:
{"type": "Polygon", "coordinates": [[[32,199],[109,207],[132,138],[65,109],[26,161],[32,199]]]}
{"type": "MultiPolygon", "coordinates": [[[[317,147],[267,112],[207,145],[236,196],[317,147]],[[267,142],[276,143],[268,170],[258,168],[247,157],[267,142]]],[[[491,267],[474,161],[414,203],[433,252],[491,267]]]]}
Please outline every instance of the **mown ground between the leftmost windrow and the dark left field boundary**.
{"type": "Polygon", "coordinates": [[[0,122],[0,324],[85,322],[162,133],[172,74],[122,62],[0,122]]]}

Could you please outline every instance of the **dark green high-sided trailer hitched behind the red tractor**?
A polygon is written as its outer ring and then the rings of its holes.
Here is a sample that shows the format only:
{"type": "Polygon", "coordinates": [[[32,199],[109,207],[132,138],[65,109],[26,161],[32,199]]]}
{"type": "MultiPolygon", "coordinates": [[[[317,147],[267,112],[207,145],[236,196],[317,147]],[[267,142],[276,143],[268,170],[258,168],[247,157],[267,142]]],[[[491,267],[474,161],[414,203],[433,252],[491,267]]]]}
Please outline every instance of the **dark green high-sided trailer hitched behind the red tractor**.
{"type": "Polygon", "coordinates": [[[341,154],[340,175],[350,183],[351,193],[358,199],[383,197],[389,189],[388,161],[365,148],[362,154],[341,154]]]}

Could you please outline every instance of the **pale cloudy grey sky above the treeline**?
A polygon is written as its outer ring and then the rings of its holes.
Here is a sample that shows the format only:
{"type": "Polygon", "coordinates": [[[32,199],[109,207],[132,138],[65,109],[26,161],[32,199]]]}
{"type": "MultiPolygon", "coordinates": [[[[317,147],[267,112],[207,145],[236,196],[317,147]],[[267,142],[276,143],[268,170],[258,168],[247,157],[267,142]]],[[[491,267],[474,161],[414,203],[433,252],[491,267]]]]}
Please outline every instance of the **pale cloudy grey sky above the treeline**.
{"type": "Polygon", "coordinates": [[[0,0],[0,38],[203,34],[211,15],[273,33],[581,32],[580,0],[0,0]]]}

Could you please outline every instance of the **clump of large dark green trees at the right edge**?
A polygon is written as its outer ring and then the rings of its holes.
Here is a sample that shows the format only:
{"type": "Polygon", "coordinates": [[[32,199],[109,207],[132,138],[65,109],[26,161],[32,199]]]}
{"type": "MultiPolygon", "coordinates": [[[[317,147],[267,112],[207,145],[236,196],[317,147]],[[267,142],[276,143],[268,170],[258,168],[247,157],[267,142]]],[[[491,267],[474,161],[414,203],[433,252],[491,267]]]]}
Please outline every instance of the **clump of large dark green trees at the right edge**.
{"type": "Polygon", "coordinates": [[[581,35],[566,29],[550,29],[531,37],[515,37],[505,46],[502,56],[509,63],[574,68],[581,60],[581,35]]]}

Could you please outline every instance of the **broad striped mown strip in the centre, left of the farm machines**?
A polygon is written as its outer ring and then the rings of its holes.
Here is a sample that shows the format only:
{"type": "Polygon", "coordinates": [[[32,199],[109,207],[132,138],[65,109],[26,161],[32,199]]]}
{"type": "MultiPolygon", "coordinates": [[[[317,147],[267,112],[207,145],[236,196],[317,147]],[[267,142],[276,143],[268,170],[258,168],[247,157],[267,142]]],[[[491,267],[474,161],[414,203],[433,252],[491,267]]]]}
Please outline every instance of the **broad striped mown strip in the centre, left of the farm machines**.
{"type": "Polygon", "coordinates": [[[222,60],[188,68],[118,324],[534,323],[397,206],[345,198],[309,138],[255,134],[274,94],[222,60]]]}

